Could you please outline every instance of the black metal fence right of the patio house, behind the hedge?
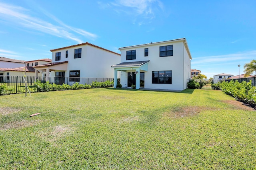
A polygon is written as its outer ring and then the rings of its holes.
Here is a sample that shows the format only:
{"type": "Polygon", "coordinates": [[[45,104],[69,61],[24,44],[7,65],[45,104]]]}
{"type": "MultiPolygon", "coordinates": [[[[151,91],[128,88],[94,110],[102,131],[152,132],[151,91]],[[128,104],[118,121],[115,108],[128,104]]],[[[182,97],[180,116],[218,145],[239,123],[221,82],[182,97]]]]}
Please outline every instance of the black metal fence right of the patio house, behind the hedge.
{"type": "MultiPolygon", "coordinates": [[[[188,80],[187,82],[191,81],[192,79],[188,80]]],[[[218,83],[218,82],[230,82],[231,80],[236,81],[238,80],[238,82],[250,82],[250,80],[252,81],[252,85],[256,86],[256,77],[248,77],[248,78],[233,78],[233,79],[221,79],[221,80],[205,80],[205,79],[193,79],[198,83],[202,83],[204,84],[202,86],[201,89],[212,89],[212,84],[218,83]]]]}

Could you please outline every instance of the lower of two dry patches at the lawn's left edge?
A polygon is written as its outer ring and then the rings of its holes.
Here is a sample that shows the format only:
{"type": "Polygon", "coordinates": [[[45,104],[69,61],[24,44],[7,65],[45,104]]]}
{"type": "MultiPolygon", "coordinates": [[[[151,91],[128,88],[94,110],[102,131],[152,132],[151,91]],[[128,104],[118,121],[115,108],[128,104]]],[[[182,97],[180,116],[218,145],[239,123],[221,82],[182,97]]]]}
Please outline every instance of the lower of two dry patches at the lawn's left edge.
{"type": "Polygon", "coordinates": [[[18,129],[18,128],[24,128],[24,127],[30,127],[33,125],[36,125],[40,122],[40,120],[22,120],[22,121],[14,121],[11,123],[6,123],[4,125],[0,126],[0,130],[8,130],[8,129],[18,129]]]}

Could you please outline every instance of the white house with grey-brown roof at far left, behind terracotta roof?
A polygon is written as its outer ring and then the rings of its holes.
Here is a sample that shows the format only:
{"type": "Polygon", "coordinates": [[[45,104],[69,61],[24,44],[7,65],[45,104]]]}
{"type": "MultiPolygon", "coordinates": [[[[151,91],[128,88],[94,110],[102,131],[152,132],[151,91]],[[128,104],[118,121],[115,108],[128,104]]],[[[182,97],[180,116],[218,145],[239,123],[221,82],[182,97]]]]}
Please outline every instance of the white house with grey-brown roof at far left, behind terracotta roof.
{"type": "Polygon", "coordinates": [[[25,61],[0,57],[0,68],[17,68],[25,66],[25,61]]]}

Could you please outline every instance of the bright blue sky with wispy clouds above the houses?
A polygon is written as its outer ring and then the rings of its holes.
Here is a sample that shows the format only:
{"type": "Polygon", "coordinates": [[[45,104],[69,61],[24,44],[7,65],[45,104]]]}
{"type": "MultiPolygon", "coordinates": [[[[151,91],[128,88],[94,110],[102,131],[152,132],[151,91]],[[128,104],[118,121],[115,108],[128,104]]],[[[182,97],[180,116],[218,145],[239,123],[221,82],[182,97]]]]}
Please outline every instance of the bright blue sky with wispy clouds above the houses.
{"type": "Polygon", "coordinates": [[[50,58],[89,42],[119,47],[185,37],[191,68],[238,75],[256,58],[255,0],[0,0],[0,56],[50,58]]]}

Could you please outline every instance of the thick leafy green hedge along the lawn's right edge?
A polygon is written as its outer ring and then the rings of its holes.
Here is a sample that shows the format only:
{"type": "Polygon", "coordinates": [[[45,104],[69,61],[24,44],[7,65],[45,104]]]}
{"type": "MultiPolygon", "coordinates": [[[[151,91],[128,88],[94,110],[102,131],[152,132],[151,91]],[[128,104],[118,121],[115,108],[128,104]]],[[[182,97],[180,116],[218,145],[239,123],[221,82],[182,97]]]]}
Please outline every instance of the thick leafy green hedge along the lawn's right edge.
{"type": "MultiPolygon", "coordinates": [[[[246,105],[256,106],[256,87],[252,85],[252,81],[250,82],[241,82],[239,83],[237,80],[230,82],[221,82],[216,83],[214,86],[218,87],[224,93],[233,96],[237,100],[244,102],[246,105]]],[[[217,89],[217,88],[216,88],[217,89]]]]}

